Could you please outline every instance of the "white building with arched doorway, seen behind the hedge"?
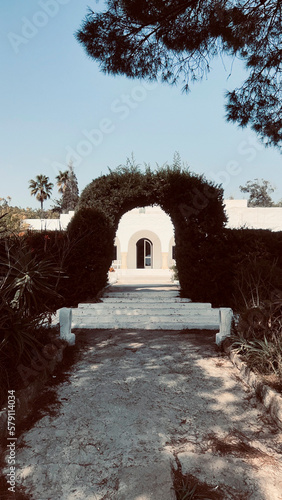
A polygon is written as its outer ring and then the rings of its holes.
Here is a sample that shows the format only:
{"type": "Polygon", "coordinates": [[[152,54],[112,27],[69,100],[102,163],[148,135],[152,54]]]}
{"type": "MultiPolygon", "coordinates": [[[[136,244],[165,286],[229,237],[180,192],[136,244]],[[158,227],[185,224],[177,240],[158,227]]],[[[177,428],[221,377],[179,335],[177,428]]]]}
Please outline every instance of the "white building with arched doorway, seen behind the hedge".
{"type": "MultiPolygon", "coordinates": [[[[225,200],[227,227],[282,231],[282,207],[249,208],[247,200],[225,200]]],[[[26,219],[37,230],[66,229],[74,212],[60,219],[26,219]]],[[[118,269],[169,269],[173,263],[174,228],[159,207],[134,208],[120,219],[116,233],[114,267],[118,269]]]]}

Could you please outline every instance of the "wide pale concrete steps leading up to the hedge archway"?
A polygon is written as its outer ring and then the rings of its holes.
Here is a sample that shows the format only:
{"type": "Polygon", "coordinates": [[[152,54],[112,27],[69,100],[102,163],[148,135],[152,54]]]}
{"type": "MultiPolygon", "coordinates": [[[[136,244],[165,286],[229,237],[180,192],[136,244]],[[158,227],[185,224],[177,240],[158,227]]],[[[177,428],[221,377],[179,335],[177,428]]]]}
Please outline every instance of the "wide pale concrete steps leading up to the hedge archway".
{"type": "Polygon", "coordinates": [[[219,309],[179,297],[173,285],[113,285],[102,302],[79,304],[72,328],[219,329],[219,309]]]}

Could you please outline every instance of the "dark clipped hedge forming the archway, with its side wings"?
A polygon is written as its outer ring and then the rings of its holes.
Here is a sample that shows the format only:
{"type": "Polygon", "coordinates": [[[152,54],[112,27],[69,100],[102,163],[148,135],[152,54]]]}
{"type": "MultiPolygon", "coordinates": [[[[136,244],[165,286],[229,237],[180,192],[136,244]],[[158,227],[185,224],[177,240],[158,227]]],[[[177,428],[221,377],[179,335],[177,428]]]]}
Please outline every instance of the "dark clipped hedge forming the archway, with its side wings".
{"type": "MultiPolygon", "coordinates": [[[[274,264],[282,268],[282,233],[224,228],[223,191],[203,176],[178,164],[145,173],[120,167],[85,188],[67,231],[26,235],[38,258],[48,255],[64,270],[58,287],[64,302],[58,307],[94,299],[107,282],[121,216],[145,205],[159,205],[172,220],[184,297],[240,309],[240,276],[252,273],[254,262],[266,275],[274,264]]],[[[274,275],[272,288],[279,287],[280,274],[274,275]]]]}

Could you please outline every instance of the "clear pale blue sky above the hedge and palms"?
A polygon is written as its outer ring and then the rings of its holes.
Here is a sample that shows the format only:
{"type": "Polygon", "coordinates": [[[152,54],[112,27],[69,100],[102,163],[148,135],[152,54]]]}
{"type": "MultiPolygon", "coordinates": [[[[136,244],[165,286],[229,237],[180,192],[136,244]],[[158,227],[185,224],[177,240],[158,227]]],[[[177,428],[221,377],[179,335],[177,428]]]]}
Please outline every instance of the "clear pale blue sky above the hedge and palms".
{"type": "Polygon", "coordinates": [[[132,153],[154,167],[178,151],[191,171],[222,183],[226,198],[242,198],[239,185],[264,178],[281,199],[281,155],[224,119],[224,92],[243,80],[241,63],[213,61],[188,95],[180,86],[104,75],[74,38],[88,5],[101,2],[1,1],[0,197],[37,208],[29,179],[55,182],[71,157],[82,190],[132,153]]]}

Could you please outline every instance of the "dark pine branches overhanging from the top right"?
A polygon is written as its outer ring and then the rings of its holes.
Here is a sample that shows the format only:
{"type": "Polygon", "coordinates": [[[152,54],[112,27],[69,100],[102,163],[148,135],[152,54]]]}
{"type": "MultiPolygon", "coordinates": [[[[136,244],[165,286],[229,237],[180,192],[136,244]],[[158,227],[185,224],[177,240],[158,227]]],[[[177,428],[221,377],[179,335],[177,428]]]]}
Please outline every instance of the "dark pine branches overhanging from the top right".
{"type": "Polygon", "coordinates": [[[277,0],[108,0],[90,11],[77,39],[105,73],[179,80],[189,90],[219,55],[245,62],[248,77],[226,94],[227,119],[250,125],[267,144],[282,142],[281,24],[277,0]]]}

